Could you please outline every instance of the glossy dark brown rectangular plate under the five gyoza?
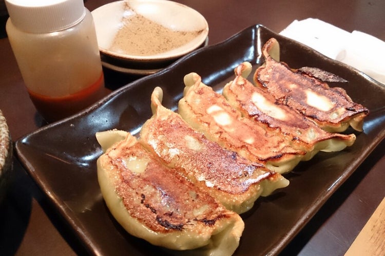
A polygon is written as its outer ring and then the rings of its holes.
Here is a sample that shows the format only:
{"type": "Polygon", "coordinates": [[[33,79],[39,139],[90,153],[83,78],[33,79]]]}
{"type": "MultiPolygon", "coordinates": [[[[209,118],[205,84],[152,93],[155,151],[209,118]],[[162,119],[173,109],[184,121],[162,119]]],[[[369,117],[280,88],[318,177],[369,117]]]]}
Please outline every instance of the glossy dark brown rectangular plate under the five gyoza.
{"type": "Polygon", "coordinates": [[[278,39],[281,60],[292,68],[317,67],[349,82],[331,83],[347,90],[352,99],[370,109],[364,132],[355,144],[338,153],[319,153],[288,174],[291,184],[272,196],[260,198],[242,215],[245,230],[237,255],[277,254],[314,216],[334,191],[354,172],[385,137],[385,87],[358,71],[314,50],[256,25],[216,46],[202,48],[174,65],[130,83],[88,110],[52,123],[16,142],[16,152],[29,174],[45,191],[93,254],[152,255],[161,248],[127,234],[109,214],[97,181],[96,160],[102,153],[94,134],[109,129],[138,133],[151,116],[150,95],[163,88],[163,102],[176,109],[184,88],[183,77],[197,72],[215,90],[234,78],[242,61],[260,65],[260,49],[271,37],[278,39]],[[362,90],[365,88],[365,90],[362,90]]]}

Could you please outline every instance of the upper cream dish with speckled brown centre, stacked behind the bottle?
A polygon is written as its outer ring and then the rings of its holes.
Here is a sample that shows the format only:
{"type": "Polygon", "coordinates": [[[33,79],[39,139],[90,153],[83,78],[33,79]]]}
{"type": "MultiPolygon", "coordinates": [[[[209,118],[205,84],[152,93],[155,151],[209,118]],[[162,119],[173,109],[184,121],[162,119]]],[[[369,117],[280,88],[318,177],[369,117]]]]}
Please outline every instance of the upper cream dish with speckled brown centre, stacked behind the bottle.
{"type": "Polygon", "coordinates": [[[199,12],[172,1],[123,0],[91,13],[101,55],[133,66],[176,60],[199,48],[208,35],[199,12]]]}

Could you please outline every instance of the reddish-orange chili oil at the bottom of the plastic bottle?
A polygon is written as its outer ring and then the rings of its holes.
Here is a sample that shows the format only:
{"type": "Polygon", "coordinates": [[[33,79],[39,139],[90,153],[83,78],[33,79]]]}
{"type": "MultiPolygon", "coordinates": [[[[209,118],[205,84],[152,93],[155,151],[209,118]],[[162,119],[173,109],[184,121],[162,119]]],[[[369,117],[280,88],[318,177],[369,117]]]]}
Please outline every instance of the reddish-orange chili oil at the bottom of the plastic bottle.
{"type": "Polygon", "coordinates": [[[28,90],[29,96],[35,105],[37,111],[43,116],[47,122],[53,122],[70,115],[73,115],[103,96],[104,76],[100,78],[90,87],[83,89],[74,94],[51,97],[34,93],[28,90]]]}

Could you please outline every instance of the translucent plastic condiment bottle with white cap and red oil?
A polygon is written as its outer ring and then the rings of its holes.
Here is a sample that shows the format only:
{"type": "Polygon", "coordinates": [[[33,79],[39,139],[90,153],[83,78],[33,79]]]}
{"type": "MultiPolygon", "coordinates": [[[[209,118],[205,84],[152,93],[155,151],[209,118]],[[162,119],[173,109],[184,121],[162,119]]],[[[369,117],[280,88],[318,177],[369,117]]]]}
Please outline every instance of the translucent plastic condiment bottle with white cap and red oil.
{"type": "Polygon", "coordinates": [[[6,6],[17,65],[32,102],[48,122],[102,97],[98,42],[83,0],[6,0],[6,6]]]}

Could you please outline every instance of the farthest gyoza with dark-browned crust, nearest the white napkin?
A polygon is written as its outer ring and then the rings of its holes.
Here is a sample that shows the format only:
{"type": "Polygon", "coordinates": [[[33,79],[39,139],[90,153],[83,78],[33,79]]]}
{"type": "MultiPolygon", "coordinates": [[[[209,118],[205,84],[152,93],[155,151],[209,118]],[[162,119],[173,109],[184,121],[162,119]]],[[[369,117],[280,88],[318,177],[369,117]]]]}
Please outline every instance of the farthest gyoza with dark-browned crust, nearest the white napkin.
{"type": "Polygon", "coordinates": [[[342,88],[290,69],[279,61],[279,44],[269,39],[262,48],[264,65],[254,74],[256,86],[273,95],[277,104],[287,105],[329,132],[343,132],[349,126],[362,131],[369,110],[355,103],[342,88]]]}

